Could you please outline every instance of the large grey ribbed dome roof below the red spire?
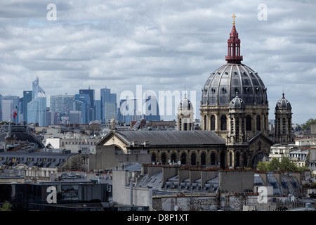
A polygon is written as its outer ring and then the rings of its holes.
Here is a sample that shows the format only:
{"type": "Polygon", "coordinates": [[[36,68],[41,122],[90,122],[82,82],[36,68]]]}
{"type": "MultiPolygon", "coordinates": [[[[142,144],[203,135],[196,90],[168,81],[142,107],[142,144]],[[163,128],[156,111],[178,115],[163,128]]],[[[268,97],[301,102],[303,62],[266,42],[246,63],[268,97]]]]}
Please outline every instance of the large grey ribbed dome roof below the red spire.
{"type": "Polygon", "coordinates": [[[211,73],[202,89],[202,105],[228,105],[236,93],[244,105],[268,105],[258,73],[241,63],[227,63],[211,73]]]}

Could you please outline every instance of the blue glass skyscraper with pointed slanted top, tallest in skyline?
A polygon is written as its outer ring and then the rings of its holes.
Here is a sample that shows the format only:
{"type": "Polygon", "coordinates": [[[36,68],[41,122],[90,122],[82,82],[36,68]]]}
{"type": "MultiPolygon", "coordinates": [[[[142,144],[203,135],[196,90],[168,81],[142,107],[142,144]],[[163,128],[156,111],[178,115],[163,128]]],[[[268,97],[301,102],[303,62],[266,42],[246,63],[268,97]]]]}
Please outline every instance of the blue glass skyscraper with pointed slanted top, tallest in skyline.
{"type": "Polygon", "coordinates": [[[39,86],[39,77],[32,83],[32,101],[27,103],[27,122],[38,123],[39,127],[47,126],[46,94],[39,86]]]}

